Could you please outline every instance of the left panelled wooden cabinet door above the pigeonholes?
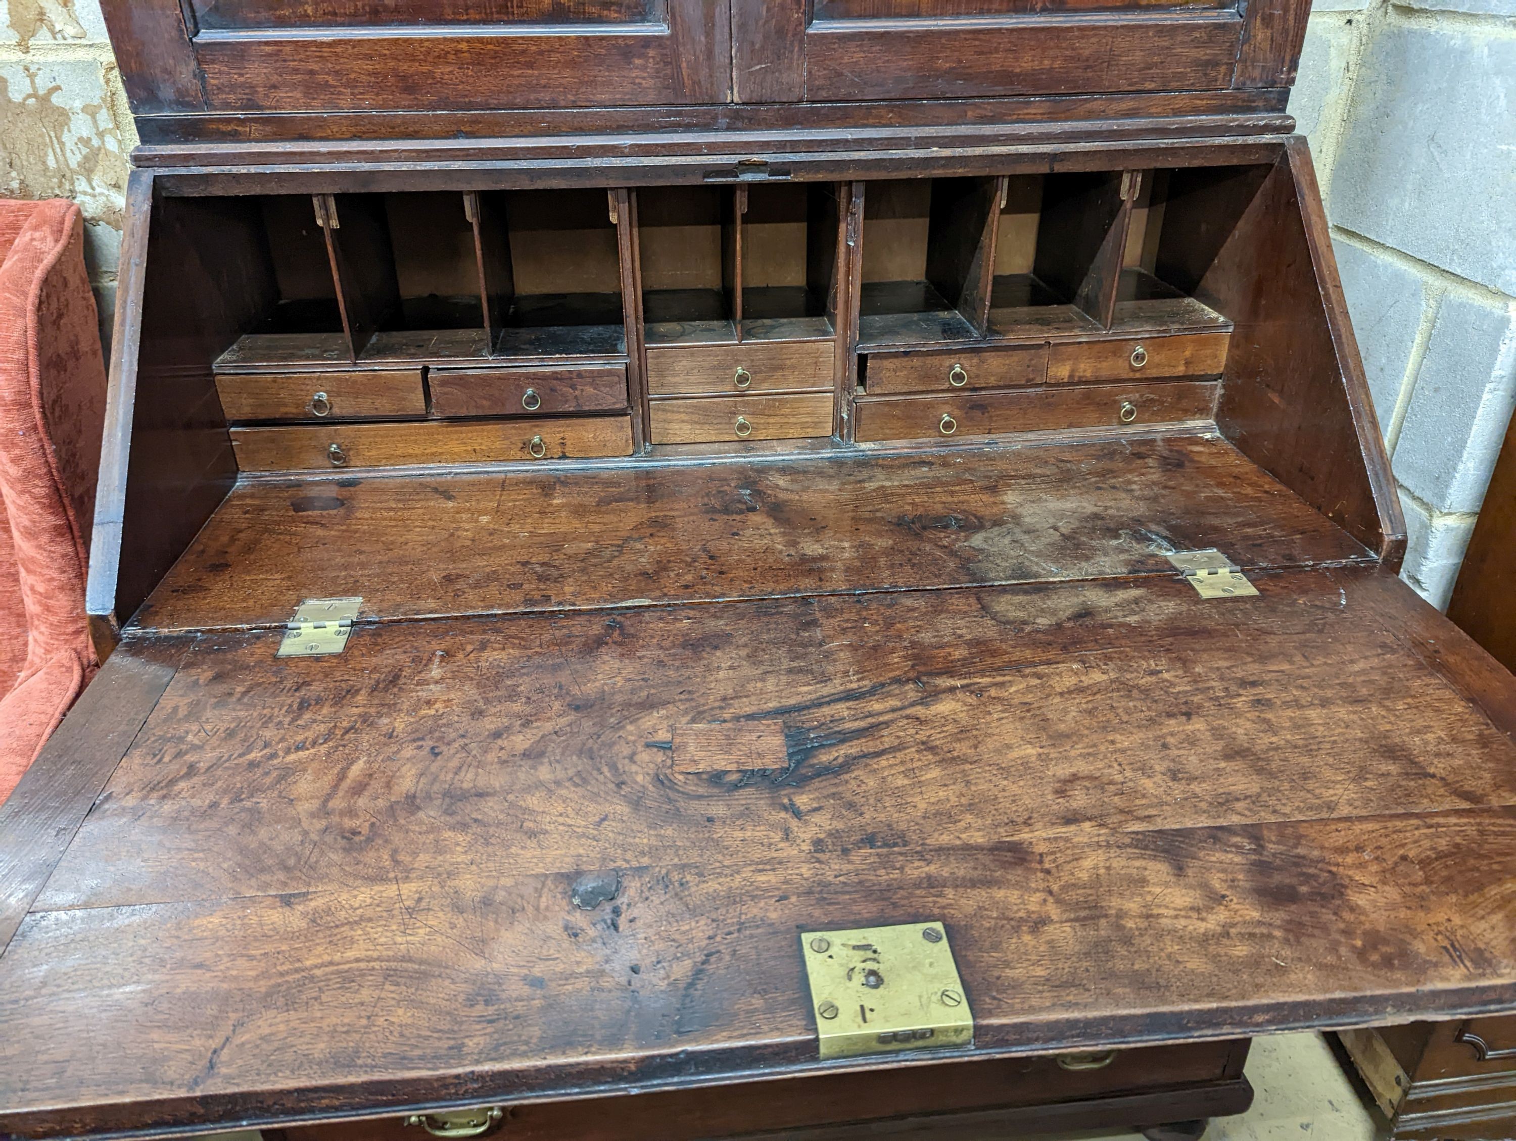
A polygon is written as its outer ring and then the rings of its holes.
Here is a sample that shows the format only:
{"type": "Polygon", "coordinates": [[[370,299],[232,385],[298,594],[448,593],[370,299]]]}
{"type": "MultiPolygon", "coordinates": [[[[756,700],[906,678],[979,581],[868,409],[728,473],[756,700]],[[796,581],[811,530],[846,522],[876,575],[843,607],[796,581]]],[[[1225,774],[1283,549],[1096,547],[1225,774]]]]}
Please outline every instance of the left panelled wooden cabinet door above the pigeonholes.
{"type": "Polygon", "coordinates": [[[728,0],[105,0],[138,114],[723,103],[728,0]]]}

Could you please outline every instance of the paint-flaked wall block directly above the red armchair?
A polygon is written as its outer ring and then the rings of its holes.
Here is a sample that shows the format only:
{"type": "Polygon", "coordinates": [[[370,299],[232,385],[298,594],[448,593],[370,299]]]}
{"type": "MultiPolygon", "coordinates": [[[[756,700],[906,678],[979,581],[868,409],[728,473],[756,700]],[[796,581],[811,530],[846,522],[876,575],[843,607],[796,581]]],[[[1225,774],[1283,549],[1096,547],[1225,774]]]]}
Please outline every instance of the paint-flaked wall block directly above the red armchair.
{"type": "Polygon", "coordinates": [[[121,229],[126,148],[99,61],[0,61],[0,194],[74,199],[121,229]]]}

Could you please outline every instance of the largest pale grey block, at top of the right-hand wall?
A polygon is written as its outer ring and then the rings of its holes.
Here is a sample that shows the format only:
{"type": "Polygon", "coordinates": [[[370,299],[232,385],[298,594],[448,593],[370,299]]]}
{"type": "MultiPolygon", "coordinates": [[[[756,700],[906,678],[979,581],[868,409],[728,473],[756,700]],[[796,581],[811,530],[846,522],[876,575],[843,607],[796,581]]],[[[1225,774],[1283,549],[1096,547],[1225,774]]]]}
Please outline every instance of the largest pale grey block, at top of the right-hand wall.
{"type": "Polygon", "coordinates": [[[1513,155],[1516,36],[1387,27],[1363,59],[1333,220],[1516,294],[1513,155]]]}

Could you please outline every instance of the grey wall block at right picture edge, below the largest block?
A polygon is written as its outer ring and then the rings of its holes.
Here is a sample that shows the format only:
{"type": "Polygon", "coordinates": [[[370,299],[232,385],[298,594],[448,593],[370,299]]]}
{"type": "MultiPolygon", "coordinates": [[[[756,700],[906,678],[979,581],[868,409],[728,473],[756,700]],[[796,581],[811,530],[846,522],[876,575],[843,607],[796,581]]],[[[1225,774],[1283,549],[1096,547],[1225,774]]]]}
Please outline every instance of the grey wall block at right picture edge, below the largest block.
{"type": "Polygon", "coordinates": [[[1516,302],[1448,294],[1395,445],[1395,474],[1434,511],[1475,512],[1516,405],[1516,302]]]}

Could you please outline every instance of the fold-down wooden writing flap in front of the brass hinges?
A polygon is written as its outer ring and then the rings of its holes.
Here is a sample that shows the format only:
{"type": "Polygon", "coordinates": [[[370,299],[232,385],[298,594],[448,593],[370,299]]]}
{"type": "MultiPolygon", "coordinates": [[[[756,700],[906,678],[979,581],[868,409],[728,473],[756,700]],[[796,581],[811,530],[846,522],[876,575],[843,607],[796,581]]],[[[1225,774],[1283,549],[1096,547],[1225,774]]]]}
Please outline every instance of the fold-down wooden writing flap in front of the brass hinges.
{"type": "Polygon", "coordinates": [[[820,921],[944,921],[990,1052],[1510,1006],[1516,746],[1398,580],[1254,577],[200,638],[0,959],[0,1130],[805,1070],[820,921]]]}

